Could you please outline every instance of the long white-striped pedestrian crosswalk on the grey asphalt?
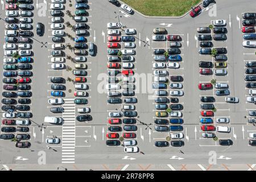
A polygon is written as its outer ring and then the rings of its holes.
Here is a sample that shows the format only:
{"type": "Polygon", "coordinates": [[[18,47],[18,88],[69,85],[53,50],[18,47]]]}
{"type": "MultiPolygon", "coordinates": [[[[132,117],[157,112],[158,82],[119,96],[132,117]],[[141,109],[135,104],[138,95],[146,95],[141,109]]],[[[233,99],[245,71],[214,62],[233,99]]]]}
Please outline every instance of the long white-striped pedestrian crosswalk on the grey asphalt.
{"type": "Polygon", "coordinates": [[[61,163],[75,163],[76,105],[74,100],[75,98],[64,99],[61,163]]]}

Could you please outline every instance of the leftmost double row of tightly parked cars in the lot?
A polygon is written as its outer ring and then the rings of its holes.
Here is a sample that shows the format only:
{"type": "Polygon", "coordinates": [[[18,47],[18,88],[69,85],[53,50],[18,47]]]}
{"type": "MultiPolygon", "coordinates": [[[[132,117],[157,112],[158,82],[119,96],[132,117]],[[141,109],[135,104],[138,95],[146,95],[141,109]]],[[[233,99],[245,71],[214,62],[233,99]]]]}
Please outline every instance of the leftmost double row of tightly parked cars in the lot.
{"type": "Polygon", "coordinates": [[[34,6],[30,0],[6,0],[5,5],[5,44],[3,45],[3,89],[2,92],[2,110],[6,111],[2,114],[5,118],[2,120],[1,139],[16,138],[15,146],[19,148],[30,147],[30,142],[22,142],[22,140],[30,139],[29,125],[31,125],[32,113],[30,105],[32,96],[31,92],[31,71],[32,58],[32,39],[34,36],[32,27],[32,10],[34,6]],[[17,78],[18,77],[18,78],[17,78]],[[18,99],[18,102],[17,102],[18,99]],[[22,112],[25,111],[25,112],[22,112]],[[18,119],[15,119],[17,118],[18,119]],[[15,127],[17,125],[17,127],[15,127]]]}

